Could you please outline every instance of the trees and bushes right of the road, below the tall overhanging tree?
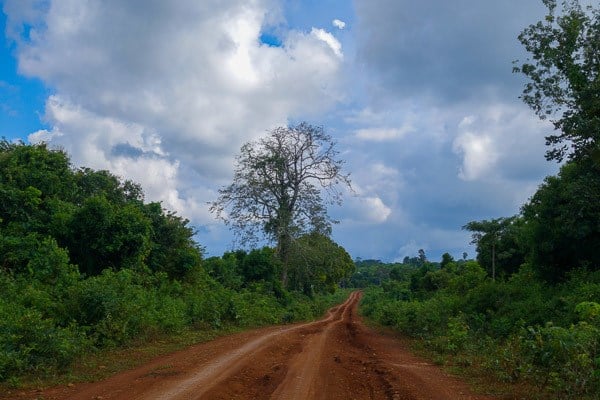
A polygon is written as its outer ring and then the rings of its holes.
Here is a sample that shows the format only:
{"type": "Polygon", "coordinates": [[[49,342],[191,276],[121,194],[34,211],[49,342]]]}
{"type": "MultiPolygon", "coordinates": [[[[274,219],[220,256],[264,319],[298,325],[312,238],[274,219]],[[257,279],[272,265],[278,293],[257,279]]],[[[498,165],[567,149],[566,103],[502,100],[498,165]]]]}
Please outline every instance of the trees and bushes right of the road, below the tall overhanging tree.
{"type": "Polygon", "coordinates": [[[528,398],[598,398],[600,165],[571,161],[519,215],[465,227],[477,260],[359,263],[381,278],[363,313],[440,362],[533,385],[528,398]]]}

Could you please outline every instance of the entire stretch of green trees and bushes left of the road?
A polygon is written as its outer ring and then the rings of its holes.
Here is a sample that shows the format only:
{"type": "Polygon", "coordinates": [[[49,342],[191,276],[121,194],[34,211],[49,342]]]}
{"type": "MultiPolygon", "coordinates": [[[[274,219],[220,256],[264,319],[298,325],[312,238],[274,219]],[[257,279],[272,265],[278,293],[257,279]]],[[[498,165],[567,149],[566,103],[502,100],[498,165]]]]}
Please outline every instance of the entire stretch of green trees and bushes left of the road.
{"type": "Polygon", "coordinates": [[[203,260],[189,222],[146,203],[139,185],[73,168],[44,144],[2,140],[0,382],[160,335],[320,315],[345,274],[326,254],[349,256],[327,237],[298,242],[284,288],[272,249],[203,260]]]}

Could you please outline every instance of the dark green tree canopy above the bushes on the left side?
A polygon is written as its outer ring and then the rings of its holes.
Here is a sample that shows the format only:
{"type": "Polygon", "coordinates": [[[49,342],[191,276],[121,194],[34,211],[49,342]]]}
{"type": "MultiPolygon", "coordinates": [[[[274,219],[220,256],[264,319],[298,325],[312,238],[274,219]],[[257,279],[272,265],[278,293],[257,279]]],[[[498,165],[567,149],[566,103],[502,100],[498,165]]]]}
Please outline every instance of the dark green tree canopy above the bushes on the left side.
{"type": "Polygon", "coordinates": [[[0,268],[31,269],[24,249],[57,248],[87,276],[148,268],[182,278],[200,265],[194,231],[143,197],[108,171],[73,168],[62,150],[1,140],[0,268]]]}

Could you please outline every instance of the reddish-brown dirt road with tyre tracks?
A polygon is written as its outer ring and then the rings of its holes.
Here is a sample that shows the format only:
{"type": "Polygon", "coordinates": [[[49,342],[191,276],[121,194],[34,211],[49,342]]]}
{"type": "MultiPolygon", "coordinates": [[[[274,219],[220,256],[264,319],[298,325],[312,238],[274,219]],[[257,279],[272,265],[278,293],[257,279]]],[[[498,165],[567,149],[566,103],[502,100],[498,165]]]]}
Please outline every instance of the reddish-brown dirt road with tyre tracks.
{"type": "MultiPolygon", "coordinates": [[[[317,322],[223,337],[105,381],[36,397],[132,399],[490,399],[365,327],[360,293],[317,322]]],[[[36,398],[33,397],[33,398],[36,398]]]]}

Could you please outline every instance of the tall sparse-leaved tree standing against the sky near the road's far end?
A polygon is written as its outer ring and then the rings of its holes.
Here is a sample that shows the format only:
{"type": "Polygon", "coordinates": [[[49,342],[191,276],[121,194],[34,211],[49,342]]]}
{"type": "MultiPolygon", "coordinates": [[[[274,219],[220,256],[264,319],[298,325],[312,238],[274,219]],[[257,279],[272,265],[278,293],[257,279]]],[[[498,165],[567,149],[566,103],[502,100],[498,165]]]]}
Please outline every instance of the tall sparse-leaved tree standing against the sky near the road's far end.
{"type": "Polygon", "coordinates": [[[335,142],[320,126],[278,127],[242,146],[233,182],[219,190],[211,211],[246,239],[262,231],[277,242],[282,283],[287,284],[292,240],[315,231],[329,234],[327,204],[341,203],[350,187],[335,142]]]}

